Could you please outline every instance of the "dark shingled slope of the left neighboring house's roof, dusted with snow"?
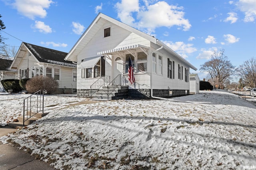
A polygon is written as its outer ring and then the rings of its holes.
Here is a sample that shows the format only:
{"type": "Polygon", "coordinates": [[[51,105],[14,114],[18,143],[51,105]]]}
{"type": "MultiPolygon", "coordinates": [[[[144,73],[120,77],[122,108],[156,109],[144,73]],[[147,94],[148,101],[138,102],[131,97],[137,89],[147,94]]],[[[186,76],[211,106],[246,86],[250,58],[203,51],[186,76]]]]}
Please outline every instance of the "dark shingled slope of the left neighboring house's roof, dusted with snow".
{"type": "Polygon", "coordinates": [[[73,64],[72,61],[64,60],[68,53],[57,51],[54,49],[48,49],[45,47],[40,47],[38,45],[33,45],[29,43],[24,43],[24,45],[28,47],[30,52],[33,53],[33,55],[39,62],[76,67],[76,64],[73,64]]]}

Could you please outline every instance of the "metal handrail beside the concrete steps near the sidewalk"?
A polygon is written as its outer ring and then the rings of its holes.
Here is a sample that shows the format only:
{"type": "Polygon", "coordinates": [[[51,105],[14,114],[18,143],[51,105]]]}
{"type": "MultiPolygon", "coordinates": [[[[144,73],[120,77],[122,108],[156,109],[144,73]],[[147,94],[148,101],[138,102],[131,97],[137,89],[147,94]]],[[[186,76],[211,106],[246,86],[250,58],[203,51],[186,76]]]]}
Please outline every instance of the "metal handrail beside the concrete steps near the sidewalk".
{"type": "MultiPolygon", "coordinates": [[[[39,113],[40,111],[44,113],[44,94],[46,93],[46,90],[38,90],[23,100],[23,126],[25,126],[25,121],[30,117],[33,117],[36,113],[39,113]]],[[[22,102],[20,102],[20,105],[22,105],[22,102]]]]}

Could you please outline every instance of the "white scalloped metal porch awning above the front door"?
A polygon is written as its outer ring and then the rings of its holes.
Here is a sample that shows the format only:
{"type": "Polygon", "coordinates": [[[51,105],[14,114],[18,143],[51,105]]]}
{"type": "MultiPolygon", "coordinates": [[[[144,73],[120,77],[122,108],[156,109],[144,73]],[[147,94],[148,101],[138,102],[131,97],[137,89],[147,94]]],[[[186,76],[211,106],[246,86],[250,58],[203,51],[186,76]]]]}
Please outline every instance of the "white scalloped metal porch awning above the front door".
{"type": "MultiPolygon", "coordinates": [[[[114,53],[120,53],[120,52],[124,52],[124,51],[128,51],[128,50],[136,50],[136,49],[141,49],[142,51],[146,51],[146,49],[149,49],[149,47],[146,47],[144,45],[140,45],[140,44],[136,44],[136,45],[129,45],[129,46],[125,46],[125,47],[119,47],[119,48],[115,48],[115,49],[110,49],[107,51],[100,51],[98,52],[98,55],[104,55],[104,54],[114,54],[114,53]]],[[[146,52],[145,52],[146,53],[146,52]]]]}

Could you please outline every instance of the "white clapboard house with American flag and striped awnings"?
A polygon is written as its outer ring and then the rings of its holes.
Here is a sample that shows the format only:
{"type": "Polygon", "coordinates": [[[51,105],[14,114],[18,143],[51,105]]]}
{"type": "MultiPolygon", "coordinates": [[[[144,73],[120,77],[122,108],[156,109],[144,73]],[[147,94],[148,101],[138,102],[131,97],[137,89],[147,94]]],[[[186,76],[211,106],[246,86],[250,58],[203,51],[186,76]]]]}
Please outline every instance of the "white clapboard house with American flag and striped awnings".
{"type": "MultiPolygon", "coordinates": [[[[78,39],[66,60],[78,64],[77,96],[81,97],[90,96],[95,84],[102,82],[97,88],[106,89],[111,81],[109,89],[115,84],[126,85],[132,98],[185,95],[190,89],[189,70],[197,70],[158,39],[102,13],[78,39]],[[128,80],[129,59],[134,66],[134,83],[128,80]]],[[[108,96],[109,91],[105,90],[108,96]]]]}

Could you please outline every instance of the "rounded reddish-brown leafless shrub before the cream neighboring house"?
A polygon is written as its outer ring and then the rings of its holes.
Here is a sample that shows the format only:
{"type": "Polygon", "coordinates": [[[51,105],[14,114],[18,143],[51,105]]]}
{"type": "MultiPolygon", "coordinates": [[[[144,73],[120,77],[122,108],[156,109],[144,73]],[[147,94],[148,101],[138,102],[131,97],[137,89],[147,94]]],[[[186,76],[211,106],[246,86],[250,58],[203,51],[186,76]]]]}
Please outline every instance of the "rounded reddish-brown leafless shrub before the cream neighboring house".
{"type": "Polygon", "coordinates": [[[58,86],[59,83],[52,77],[36,76],[27,81],[26,90],[30,93],[35,93],[38,90],[46,90],[47,94],[51,94],[55,92],[58,86]]]}

